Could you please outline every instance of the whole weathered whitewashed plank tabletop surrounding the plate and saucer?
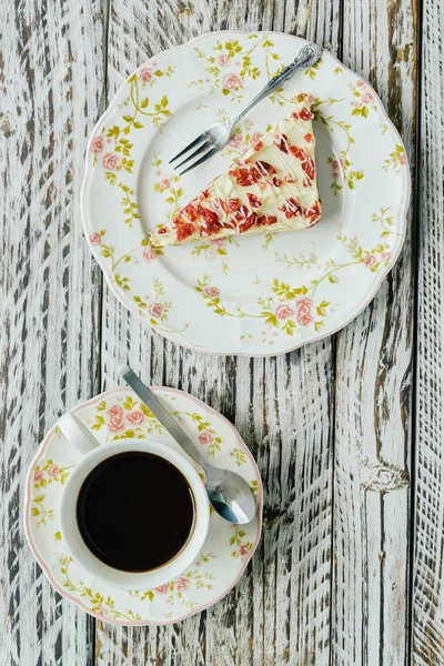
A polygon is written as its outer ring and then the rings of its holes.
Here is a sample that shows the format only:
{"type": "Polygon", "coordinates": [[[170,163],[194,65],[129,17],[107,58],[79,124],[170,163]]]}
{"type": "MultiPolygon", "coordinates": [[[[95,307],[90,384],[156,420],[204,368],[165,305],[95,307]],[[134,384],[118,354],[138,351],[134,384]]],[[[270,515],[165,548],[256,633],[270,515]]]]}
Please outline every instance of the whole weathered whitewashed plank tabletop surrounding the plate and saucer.
{"type": "Polygon", "coordinates": [[[0,664],[444,664],[443,30],[440,0],[2,0],[0,664]],[[346,329],[278,359],[216,357],[110,294],[79,198],[87,139],[123,79],[218,29],[280,30],[369,78],[412,164],[407,240],[346,329]],[[164,628],[95,622],[26,544],[23,482],[59,414],[147,382],[225,414],[256,456],[264,532],[208,612],[164,628]],[[412,662],[411,662],[412,660],[412,662]]]}

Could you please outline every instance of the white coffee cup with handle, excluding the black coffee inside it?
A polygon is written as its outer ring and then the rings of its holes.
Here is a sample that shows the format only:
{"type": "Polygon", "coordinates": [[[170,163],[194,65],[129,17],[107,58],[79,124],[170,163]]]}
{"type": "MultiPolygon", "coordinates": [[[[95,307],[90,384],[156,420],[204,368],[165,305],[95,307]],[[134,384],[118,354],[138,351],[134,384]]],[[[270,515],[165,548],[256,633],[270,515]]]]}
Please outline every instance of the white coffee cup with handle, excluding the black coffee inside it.
{"type": "Polygon", "coordinates": [[[83,454],[63,487],[60,503],[61,532],[74,562],[112,587],[127,591],[159,587],[183,574],[198,559],[210,525],[205,486],[193,465],[170,446],[150,440],[119,440],[100,444],[87,426],[71,413],[63,414],[58,425],[67,440],[83,454]],[[79,492],[90,472],[107,458],[131,451],[151,453],[172,463],[185,477],[194,496],[195,509],[194,529],[183,549],[163,566],[141,573],[113,568],[95,557],[84,543],[77,521],[79,492]]]}

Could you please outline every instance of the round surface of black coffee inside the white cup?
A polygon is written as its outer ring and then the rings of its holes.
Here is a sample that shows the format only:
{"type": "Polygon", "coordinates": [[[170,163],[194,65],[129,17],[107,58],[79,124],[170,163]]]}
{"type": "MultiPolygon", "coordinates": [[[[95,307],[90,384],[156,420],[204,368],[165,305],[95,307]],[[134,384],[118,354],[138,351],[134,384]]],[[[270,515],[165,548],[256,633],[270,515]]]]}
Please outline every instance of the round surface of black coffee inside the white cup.
{"type": "Polygon", "coordinates": [[[100,463],[85,478],[77,504],[89,549],[125,572],[148,572],[173,559],[193,532],[194,513],[183,474],[140,451],[100,463]]]}

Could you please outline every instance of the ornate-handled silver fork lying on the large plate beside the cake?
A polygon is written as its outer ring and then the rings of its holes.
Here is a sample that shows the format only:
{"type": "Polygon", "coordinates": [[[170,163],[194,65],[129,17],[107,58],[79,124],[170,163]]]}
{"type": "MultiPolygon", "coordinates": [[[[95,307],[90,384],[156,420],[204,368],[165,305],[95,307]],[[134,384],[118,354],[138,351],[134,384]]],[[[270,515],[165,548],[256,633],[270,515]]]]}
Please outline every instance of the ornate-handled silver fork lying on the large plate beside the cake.
{"type": "Polygon", "coordinates": [[[189,143],[186,148],[181,150],[180,153],[172,158],[170,160],[170,164],[179,158],[181,158],[182,155],[184,155],[185,153],[190,152],[193,148],[195,148],[196,150],[190,155],[188,155],[184,160],[182,160],[182,162],[175,164],[174,169],[179,169],[179,167],[182,167],[182,164],[185,164],[185,162],[190,162],[190,160],[193,160],[199,155],[199,160],[196,160],[195,162],[186,167],[186,169],[181,171],[180,175],[186,173],[186,171],[190,171],[190,169],[194,169],[194,167],[198,167],[199,164],[203,164],[203,162],[205,162],[214,153],[216,153],[218,150],[225,145],[225,143],[231,137],[232,129],[235,124],[238,124],[241,118],[245,115],[245,113],[248,113],[253,107],[255,107],[258,102],[260,102],[264,98],[269,97],[272,92],[281,88],[284,81],[291,79],[293,74],[295,74],[297,71],[315,64],[321,58],[321,54],[322,49],[317,44],[314,44],[312,42],[305,44],[300,50],[297,57],[293,60],[293,62],[289,64],[285,69],[283,69],[282,72],[279,73],[276,77],[270,79],[270,81],[261,90],[261,92],[259,92],[256,97],[253,98],[242,111],[240,111],[239,113],[233,113],[233,115],[231,115],[225,121],[216,122],[215,124],[211,125],[211,128],[209,128],[205,132],[202,132],[200,137],[194,139],[194,141],[189,143]]]}

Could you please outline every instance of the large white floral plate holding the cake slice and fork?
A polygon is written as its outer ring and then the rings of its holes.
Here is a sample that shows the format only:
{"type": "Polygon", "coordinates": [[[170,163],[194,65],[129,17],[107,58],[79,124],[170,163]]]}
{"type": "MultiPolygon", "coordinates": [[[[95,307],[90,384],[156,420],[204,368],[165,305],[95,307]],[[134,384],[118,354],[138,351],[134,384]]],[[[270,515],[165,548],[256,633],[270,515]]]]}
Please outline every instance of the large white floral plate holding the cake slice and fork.
{"type": "Polygon", "coordinates": [[[230,31],[159,53],[94,129],[82,195],[91,250],[124,305],[174,342],[221,354],[285,353],[352,321],[400,253],[410,199],[402,141],[374,90],[327,52],[253,109],[205,164],[179,178],[168,163],[304,43],[230,31]],[[147,234],[286,115],[302,91],[313,97],[316,121],[320,224],[152,249],[147,234]]]}

